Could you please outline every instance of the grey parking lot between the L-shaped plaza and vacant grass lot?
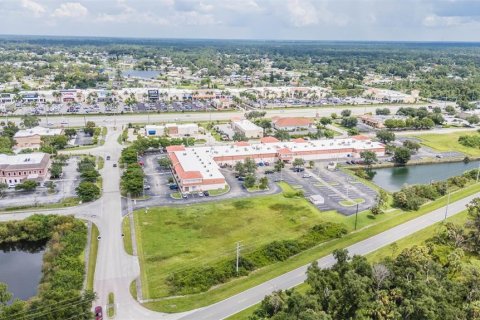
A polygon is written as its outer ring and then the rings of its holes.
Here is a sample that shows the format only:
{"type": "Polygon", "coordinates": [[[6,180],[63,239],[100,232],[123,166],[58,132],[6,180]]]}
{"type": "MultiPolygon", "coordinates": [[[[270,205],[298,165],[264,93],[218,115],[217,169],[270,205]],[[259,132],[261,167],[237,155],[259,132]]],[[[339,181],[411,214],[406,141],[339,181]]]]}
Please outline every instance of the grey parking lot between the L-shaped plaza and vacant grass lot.
{"type": "Polygon", "coordinates": [[[198,202],[217,201],[220,199],[240,199],[251,196],[280,193],[278,182],[284,181],[293,189],[301,190],[304,197],[311,201],[318,210],[335,210],[344,215],[352,215],[357,211],[368,210],[375,204],[377,192],[355,177],[341,171],[326,169],[326,162],[317,162],[314,168],[302,168],[294,172],[287,166],[281,173],[274,172],[273,166],[262,166],[257,169],[257,178],[263,176],[269,179],[268,188],[255,192],[248,191],[243,181],[235,177],[233,168],[222,168],[228,188],[209,192],[181,193],[179,192],[170,169],[161,167],[158,160],[166,157],[163,153],[149,153],[141,158],[144,164],[144,199],[137,200],[134,207],[152,207],[175,204],[193,204],[198,202]],[[273,173],[272,173],[273,172],[273,173]],[[268,173],[268,174],[265,174],[268,173]],[[320,196],[320,197],[318,197],[320,196]]]}

